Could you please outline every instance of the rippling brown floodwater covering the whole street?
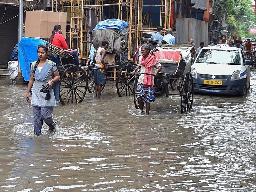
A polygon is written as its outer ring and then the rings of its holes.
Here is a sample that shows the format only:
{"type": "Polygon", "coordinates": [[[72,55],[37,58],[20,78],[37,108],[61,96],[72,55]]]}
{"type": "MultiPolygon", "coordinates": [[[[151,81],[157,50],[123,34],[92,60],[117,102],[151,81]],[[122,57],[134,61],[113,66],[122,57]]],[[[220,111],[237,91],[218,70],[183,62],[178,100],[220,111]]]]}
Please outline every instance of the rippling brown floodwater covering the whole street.
{"type": "Polygon", "coordinates": [[[57,132],[33,133],[26,86],[0,81],[0,191],[256,191],[256,71],[246,97],[157,97],[150,115],[111,82],[102,100],[54,108],[57,132]]]}

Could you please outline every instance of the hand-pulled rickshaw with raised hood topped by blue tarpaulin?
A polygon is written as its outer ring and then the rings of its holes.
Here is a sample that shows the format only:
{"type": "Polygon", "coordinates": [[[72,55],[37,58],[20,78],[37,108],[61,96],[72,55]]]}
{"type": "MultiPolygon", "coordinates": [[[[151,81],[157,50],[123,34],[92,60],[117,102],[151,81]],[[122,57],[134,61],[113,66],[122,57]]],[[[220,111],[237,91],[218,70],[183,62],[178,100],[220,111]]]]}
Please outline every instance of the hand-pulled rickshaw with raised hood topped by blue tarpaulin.
{"type": "MultiPolygon", "coordinates": [[[[130,81],[129,84],[127,84],[127,80],[120,77],[121,71],[132,71],[134,69],[134,66],[128,62],[128,29],[129,25],[125,21],[119,19],[107,19],[100,21],[92,30],[92,35],[94,37],[93,45],[95,49],[101,47],[103,40],[107,39],[109,42],[105,57],[105,63],[108,66],[108,70],[105,71],[105,84],[107,80],[116,81],[117,94],[120,97],[124,95],[132,95],[133,90],[133,85],[130,84],[130,81]],[[108,77],[107,74],[112,74],[113,76],[108,77]]],[[[88,67],[86,73],[87,89],[90,93],[94,92],[93,68],[94,64],[88,67]]],[[[102,85],[102,90],[104,89],[105,84],[102,85]]]]}

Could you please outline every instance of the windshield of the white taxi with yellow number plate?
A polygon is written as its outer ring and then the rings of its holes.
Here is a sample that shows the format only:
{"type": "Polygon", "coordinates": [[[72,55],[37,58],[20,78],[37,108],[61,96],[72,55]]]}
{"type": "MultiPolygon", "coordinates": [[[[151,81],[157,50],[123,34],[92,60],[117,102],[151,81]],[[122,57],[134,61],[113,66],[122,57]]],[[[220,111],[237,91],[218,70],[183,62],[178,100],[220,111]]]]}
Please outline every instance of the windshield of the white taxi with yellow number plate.
{"type": "Polygon", "coordinates": [[[238,50],[203,49],[196,60],[197,63],[214,63],[241,65],[238,50]]]}

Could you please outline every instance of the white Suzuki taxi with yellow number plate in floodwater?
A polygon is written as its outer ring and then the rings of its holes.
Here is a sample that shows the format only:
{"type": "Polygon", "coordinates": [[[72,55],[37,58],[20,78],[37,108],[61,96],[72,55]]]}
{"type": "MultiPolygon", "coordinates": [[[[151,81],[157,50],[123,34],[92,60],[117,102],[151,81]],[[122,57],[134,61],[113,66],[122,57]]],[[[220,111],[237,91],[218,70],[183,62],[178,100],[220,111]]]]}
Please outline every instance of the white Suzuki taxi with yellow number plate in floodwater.
{"type": "Polygon", "coordinates": [[[244,96],[250,87],[252,64],[240,48],[204,47],[191,66],[194,92],[244,96]]]}

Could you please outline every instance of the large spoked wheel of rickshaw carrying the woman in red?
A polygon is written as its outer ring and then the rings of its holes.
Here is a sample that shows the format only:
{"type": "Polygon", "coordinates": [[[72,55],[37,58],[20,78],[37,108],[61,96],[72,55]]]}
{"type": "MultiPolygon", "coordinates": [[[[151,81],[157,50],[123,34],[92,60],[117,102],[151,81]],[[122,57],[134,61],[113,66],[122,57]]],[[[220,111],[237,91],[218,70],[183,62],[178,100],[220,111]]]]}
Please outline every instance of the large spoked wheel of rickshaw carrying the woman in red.
{"type": "Polygon", "coordinates": [[[70,66],[64,71],[59,82],[60,102],[80,103],[86,94],[86,75],[80,66],[70,66]]]}

